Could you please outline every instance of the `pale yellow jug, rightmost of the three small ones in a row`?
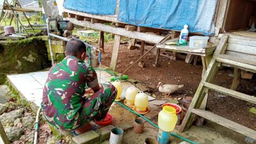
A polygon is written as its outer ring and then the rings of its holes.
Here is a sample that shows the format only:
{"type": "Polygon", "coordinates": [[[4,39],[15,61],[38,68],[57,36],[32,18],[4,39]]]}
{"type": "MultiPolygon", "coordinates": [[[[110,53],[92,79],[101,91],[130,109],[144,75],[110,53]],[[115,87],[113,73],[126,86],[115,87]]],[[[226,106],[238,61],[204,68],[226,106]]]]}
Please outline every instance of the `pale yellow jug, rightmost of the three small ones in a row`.
{"type": "Polygon", "coordinates": [[[140,92],[136,95],[134,104],[137,111],[146,111],[148,107],[148,95],[140,92]]]}

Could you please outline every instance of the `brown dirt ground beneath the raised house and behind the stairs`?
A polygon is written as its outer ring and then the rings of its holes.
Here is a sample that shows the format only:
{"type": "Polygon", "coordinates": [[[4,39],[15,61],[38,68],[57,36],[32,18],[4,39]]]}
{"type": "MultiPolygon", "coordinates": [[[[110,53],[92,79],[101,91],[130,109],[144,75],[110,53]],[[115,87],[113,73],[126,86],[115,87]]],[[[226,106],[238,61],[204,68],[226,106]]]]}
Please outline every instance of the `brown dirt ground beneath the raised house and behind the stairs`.
{"type": "MultiPolygon", "coordinates": [[[[124,72],[124,70],[136,61],[140,56],[140,50],[127,49],[128,44],[121,44],[118,51],[118,60],[116,65],[116,72],[124,72]]],[[[109,67],[113,44],[105,44],[104,54],[102,55],[102,65],[109,67]]],[[[146,45],[145,49],[152,46],[146,45]]],[[[147,50],[145,50],[147,51],[147,50]]],[[[155,55],[150,52],[145,56],[145,68],[140,68],[134,65],[127,71],[127,75],[132,79],[140,80],[146,86],[156,86],[157,83],[164,84],[184,84],[184,88],[178,92],[172,93],[168,99],[173,97],[191,96],[196,92],[198,84],[201,81],[202,64],[198,61],[197,65],[189,65],[184,60],[171,61],[169,58],[160,56],[159,64],[161,67],[153,67],[155,55]]],[[[220,86],[229,88],[232,83],[231,68],[221,68],[214,79],[214,83],[220,86]]],[[[244,92],[249,95],[256,95],[256,81],[255,79],[243,79],[238,89],[239,92],[244,92]]],[[[156,92],[157,99],[164,99],[159,92],[156,92]]],[[[249,112],[252,108],[252,103],[243,100],[235,99],[233,97],[221,95],[217,92],[210,92],[207,100],[207,109],[212,113],[228,118],[238,124],[242,124],[251,129],[256,129],[256,115],[249,112]]]]}

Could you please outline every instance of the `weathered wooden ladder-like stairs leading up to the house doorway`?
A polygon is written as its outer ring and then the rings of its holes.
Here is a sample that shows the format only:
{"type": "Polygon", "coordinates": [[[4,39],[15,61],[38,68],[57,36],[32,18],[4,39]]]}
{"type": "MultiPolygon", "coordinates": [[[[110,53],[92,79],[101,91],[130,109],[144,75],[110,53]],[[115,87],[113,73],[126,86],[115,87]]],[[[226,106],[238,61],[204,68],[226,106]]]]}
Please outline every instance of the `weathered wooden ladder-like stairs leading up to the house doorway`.
{"type": "MultiPolygon", "coordinates": [[[[231,51],[233,51],[234,53],[233,46],[235,44],[229,44],[228,38],[228,35],[223,35],[220,40],[220,43],[216,47],[216,51],[214,52],[213,58],[209,63],[209,67],[207,68],[204,77],[202,77],[202,81],[200,82],[198,89],[196,90],[195,96],[189,106],[188,112],[184,117],[182,124],[180,125],[179,130],[180,132],[186,131],[193,124],[193,121],[196,119],[196,116],[201,116],[203,118],[206,118],[207,120],[211,120],[212,122],[223,125],[224,127],[228,127],[233,131],[239,132],[244,136],[248,136],[256,140],[256,131],[253,131],[253,129],[244,127],[243,125],[237,124],[236,122],[232,122],[231,120],[227,120],[226,118],[218,116],[204,109],[199,109],[200,105],[202,104],[202,101],[204,100],[205,94],[208,93],[209,89],[214,90],[216,92],[224,93],[225,95],[236,97],[237,99],[245,100],[256,104],[256,97],[236,92],[235,90],[230,90],[228,88],[223,88],[221,86],[211,83],[212,79],[214,79],[214,76],[218,70],[218,67],[220,67],[221,65],[228,65],[230,67],[256,72],[256,55],[253,55],[253,52],[250,52],[250,56],[252,56],[252,58],[255,59],[248,60],[248,58],[244,58],[243,56],[239,57],[237,55],[235,56],[230,54],[231,51]]],[[[234,40],[234,38],[232,40],[234,40]]],[[[230,40],[230,42],[232,42],[232,40],[230,40]]],[[[243,39],[241,40],[243,41],[243,39]]],[[[239,43],[243,44],[243,47],[240,47],[240,49],[244,49],[247,47],[246,45],[244,45],[244,42],[242,41],[239,43]]],[[[238,41],[234,42],[237,43],[238,41]]],[[[239,44],[237,43],[236,46],[239,44]]],[[[248,43],[246,44],[249,44],[249,46],[253,48],[254,45],[252,46],[251,44],[256,44],[256,40],[248,41],[248,43]]],[[[246,49],[245,52],[246,51],[248,51],[248,49],[246,49]]],[[[253,51],[254,53],[256,52],[256,47],[254,47],[253,51]]],[[[236,54],[239,54],[239,51],[236,54]]]]}

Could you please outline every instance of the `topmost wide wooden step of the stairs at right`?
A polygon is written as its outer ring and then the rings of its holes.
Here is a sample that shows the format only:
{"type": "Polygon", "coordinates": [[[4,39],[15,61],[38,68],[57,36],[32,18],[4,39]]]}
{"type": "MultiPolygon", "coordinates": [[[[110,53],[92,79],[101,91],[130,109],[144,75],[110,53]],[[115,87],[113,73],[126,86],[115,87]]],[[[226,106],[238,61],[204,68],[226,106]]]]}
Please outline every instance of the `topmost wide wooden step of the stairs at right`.
{"type": "Polygon", "coordinates": [[[216,61],[221,62],[221,63],[226,63],[226,64],[228,64],[232,67],[237,67],[237,68],[241,68],[243,70],[256,72],[256,65],[254,63],[254,60],[253,61],[246,60],[244,62],[240,62],[240,61],[243,61],[243,60],[239,59],[239,58],[236,58],[234,56],[228,56],[226,54],[220,54],[220,56],[218,56],[216,58],[216,61]],[[248,64],[248,63],[253,63],[253,65],[248,64]]]}

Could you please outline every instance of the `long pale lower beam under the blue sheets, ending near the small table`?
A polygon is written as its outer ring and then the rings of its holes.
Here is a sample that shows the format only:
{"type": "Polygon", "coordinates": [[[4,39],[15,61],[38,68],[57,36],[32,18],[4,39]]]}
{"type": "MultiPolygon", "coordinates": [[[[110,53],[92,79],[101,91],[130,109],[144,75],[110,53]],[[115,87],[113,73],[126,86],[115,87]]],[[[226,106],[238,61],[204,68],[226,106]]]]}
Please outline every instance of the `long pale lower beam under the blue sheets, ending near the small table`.
{"type": "Polygon", "coordinates": [[[92,24],[92,22],[81,21],[69,17],[67,17],[66,19],[79,26],[88,26],[89,28],[97,29],[99,31],[106,31],[108,33],[114,33],[115,35],[127,36],[129,38],[136,38],[138,40],[145,40],[147,42],[153,42],[154,44],[157,44],[158,42],[160,42],[160,40],[164,38],[164,36],[152,35],[149,33],[140,33],[138,31],[125,31],[124,28],[113,28],[112,26],[107,26],[105,24],[92,24]]]}

